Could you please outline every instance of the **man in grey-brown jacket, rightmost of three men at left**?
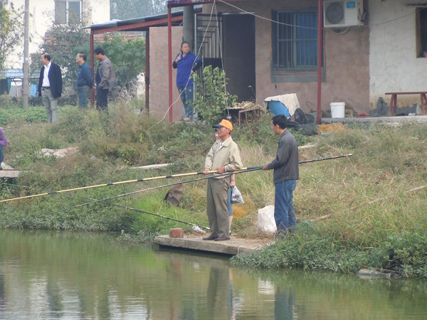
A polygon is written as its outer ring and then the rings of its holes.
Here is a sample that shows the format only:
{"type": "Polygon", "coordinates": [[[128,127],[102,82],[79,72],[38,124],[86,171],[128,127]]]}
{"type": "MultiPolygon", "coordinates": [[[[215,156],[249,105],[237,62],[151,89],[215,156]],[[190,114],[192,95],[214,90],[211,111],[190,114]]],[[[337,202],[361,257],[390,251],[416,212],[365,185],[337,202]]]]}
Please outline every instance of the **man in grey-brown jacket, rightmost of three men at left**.
{"type": "Polygon", "coordinates": [[[96,107],[98,110],[108,112],[108,91],[116,84],[115,72],[112,68],[110,59],[105,55],[104,49],[97,47],[94,50],[95,58],[100,60],[98,65],[95,83],[96,83],[96,107]]]}

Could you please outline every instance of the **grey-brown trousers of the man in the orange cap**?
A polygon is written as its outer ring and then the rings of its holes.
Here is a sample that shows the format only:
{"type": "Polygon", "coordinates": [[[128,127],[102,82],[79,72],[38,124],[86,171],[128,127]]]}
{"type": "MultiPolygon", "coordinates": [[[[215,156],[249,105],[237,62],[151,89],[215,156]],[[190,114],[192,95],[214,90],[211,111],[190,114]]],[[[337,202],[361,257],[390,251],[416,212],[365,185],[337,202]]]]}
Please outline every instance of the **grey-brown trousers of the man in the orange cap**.
{"type": "Polygon", "coordinates": [[[208,179],[206,196],[206,211],[209,228],[214,238],[230,238],[230,223],[228,218],[227,191],[230,188],[230,178],[208,179]]]}

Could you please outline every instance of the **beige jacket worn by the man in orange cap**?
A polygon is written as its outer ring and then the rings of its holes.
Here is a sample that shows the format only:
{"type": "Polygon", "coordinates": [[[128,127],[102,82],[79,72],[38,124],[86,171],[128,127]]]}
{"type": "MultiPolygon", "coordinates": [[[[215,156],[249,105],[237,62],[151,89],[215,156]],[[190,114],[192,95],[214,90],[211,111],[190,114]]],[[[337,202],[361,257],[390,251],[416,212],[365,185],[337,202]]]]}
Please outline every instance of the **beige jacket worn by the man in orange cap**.
{"type": "MultiPolygon", "coordinates": [[[[238,146],[233,139],[229,137],[223,142],[215,142],[208,152],[205,160],[205,169],[216,170],[221,166],[227,166],[227,171],[235,171],[243,168],[238,146]]],[[[228,176],[219,176],[218,178],[226,178],[228,176]]]]}

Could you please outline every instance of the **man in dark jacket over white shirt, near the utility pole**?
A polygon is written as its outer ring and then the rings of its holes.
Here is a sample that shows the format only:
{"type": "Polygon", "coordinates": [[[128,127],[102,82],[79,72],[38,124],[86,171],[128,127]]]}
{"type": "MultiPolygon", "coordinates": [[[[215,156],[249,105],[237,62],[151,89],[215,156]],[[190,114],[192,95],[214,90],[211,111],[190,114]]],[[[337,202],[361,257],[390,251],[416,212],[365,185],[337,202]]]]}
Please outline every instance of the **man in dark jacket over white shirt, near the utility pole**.
{"type": "Polygon", "coordinates": [[[42,97],[43,105],[46,107],[48,122],[58,122],[58,97],[62,94],[62,75],[59,65],[51,62],[51,55],[41,55],[43,67],[38,79],[38,96],[42,97]]]}

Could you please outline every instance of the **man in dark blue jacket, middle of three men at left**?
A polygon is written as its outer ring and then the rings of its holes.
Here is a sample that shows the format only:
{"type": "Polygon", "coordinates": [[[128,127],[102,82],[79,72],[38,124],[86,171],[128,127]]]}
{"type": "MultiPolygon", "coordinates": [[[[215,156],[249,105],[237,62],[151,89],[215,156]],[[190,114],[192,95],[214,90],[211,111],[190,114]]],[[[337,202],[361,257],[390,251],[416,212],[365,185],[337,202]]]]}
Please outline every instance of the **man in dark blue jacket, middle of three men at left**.
{"type": "Polygon", "coordinates": [[[88,106],[90,92],[93,87],[92,69],[88,63],[86,63],[86,60],[87,57],[83,52],[79,52],[75,57],[75,62],[80,65],[77,73],[77,81],[75,82],[79,109],[83,109],[88,106]]]}

